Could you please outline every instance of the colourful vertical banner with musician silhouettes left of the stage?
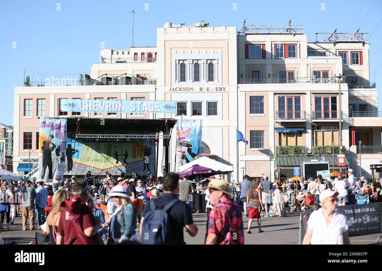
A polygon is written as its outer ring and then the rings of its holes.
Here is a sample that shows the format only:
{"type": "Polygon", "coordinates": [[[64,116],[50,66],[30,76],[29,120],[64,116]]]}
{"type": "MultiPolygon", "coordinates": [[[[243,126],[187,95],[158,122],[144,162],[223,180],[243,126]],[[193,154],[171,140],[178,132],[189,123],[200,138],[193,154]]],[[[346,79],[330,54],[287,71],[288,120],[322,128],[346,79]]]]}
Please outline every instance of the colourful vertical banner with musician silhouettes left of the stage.
{"type": "Polygon", "coordinates": [[[66,118],[40,118],[39,179],[45,182],[63,182],[66,122],[66,118]]]}

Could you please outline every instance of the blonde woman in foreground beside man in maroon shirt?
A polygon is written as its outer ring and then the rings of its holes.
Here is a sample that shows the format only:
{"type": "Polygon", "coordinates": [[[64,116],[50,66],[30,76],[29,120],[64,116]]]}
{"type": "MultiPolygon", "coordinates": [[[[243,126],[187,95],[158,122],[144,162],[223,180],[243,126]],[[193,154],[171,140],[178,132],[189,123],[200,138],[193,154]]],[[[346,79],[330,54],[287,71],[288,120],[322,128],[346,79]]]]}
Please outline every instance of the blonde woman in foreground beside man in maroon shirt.
{"type": "Polygon", "coordinates": [[[56,193],[54,193],[52,197],[52,211],[49,213],[47,217],[47,228],[46,232],[49,234],[50,241],[49,245],[55,245],[56,244],[56,235],[57,235],[57,228],[58,223],[60,222],[60,217],[62,210],[64,209],[61,207],[61,203],[68,198],[70,198],[71,193],[66,190],[58,190],[56,193]]]}

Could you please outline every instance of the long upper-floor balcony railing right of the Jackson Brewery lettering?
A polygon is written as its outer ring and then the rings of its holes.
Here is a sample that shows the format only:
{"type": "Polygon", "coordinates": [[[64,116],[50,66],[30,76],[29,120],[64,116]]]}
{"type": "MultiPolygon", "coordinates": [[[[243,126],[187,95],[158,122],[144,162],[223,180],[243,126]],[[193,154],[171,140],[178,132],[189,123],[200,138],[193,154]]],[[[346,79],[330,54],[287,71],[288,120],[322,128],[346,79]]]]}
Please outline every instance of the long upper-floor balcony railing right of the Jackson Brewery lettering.
{"type": "Polygon", "coordinates": [[[238,84],[325,84],[325,83],[338,83],[337,78],[310,78],[310,77],[296,77],[296,78],[238,78],[238,84]]]}

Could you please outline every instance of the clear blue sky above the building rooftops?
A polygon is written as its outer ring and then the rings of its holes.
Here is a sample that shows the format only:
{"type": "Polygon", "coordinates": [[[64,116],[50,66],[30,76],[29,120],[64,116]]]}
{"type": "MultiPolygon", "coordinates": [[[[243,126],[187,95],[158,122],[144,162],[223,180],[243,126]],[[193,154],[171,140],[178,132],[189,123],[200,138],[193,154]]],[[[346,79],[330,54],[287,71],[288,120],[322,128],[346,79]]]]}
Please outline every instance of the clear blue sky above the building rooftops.
{"type": "MultiPolygon", "coordinates": [[[[0,80],[0,122],[12,123],[13,91],[15,86],[23,86],[24,69],[47,73],[90,71],[92,63],[99,61],[101,42],[105,48],[129,49],[131,10],[136,12],[134,46],[156,46],[156,29],[166,22],[187,25],[205,20],[210,26],[236,26],[240,30],[244,19],[247,24],[288,24],[292,19],[292,24],[304,25],[310,41],[316,39],[315,32],[331,32],[335,28],[337,32],[354,32],[361,26],[360,32],[369,32],[366,40],[371,43],[370,81],[377,83],[379,97],[382,97],[380,0],[273,0],[261,4],[236,0],[3,0],[0,3],[0,52],[3,54],[0,72],[4,76],[0,80]]],[[[26,73],[32,76],[31,71],[26,73]]],[[[36,74],[34,79],[38,78],[36,74]]],[[[379,106],[382,106],[382,98],[379,106]]]]}

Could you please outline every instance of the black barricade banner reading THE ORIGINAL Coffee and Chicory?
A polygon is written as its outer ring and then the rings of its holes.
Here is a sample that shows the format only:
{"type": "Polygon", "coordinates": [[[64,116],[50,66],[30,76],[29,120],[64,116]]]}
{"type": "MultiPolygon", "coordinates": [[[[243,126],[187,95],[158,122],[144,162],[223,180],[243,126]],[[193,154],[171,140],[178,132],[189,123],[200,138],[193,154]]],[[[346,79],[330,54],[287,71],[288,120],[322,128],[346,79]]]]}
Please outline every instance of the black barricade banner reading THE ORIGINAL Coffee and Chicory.
{"type": "Polygon", "coordinates": [[[337,211],[346,216],[349,237],[381,232],[379,202],[338,206],[337,211]]]}

